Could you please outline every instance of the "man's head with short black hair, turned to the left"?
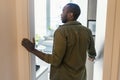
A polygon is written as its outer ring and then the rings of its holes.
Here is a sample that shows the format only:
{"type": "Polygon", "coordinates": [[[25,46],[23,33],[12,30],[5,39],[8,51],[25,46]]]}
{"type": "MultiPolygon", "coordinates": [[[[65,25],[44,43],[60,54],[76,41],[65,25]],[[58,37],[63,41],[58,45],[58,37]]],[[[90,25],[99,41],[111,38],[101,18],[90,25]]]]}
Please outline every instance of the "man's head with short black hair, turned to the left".
{"type": "Polygon", "coordinates": [[[61,19],[63,23],[76,21],[81,13],[80,7],[75,3],[68,3],[63,8],[61,19]]]}

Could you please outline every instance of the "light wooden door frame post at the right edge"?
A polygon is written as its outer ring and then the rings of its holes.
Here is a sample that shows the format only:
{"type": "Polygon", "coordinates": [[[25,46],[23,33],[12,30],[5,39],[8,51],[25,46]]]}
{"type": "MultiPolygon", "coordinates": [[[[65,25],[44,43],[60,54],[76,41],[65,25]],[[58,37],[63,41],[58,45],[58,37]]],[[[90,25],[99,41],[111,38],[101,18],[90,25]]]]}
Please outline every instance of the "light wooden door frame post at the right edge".
{"type": "Polygon", "coordinates": [[[119,80],[120,75],[120,1],[108,0],[104,48],[103,80],[119,80]],[[119,78],[119,79],[118,79],[119,78]]]}

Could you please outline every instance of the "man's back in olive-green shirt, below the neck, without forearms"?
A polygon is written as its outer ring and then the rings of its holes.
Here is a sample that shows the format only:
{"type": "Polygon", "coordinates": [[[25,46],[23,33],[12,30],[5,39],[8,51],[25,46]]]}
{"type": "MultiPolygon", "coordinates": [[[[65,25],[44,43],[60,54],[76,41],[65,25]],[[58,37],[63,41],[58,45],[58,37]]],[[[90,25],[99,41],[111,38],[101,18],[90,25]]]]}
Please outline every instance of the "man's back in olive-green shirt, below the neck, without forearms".
{"type": "MultiPolygon", "coordinates": [[[[89,49],[91,43],[91,32],[86,27],[83,27],[77,21],[71,21],[60,26],[55,32],[55,45],[64,46],[64,53],[57,54],[62,55],[61,63],[58,67],[51,66],[51,80],[86,80],[86,52],[89,49]],[[59,39],[57,34],[61,34],[59,39]],[[59,44],[60,42],[64,44],[59,44]],[[53,78],[53,79],[52,79],[53,78]]],[[[93,48],[94,49],[94,48],[93,48]]],[[[93,52],[95,53],[95,52],[93,52]]]]}

